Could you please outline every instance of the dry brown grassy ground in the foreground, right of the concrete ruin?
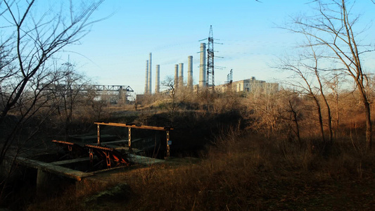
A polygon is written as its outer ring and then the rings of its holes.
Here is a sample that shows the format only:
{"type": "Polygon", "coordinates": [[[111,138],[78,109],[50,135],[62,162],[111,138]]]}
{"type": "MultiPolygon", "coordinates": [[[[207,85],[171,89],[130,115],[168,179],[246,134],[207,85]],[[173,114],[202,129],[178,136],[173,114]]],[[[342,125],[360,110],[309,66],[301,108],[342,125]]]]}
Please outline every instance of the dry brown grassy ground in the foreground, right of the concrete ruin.
{"type": "Polygon", "coordinates": [[[204,158],[121,170],[28,210],[374,210],[375,155],[330,156],[231,130],[204,158]],[[120,184],[120,185],[119,185],[120,184]],[[104,192],[101,192],[106,190],[104,192]],[[101,192],[101,195],[98,195],[101,192]]]}

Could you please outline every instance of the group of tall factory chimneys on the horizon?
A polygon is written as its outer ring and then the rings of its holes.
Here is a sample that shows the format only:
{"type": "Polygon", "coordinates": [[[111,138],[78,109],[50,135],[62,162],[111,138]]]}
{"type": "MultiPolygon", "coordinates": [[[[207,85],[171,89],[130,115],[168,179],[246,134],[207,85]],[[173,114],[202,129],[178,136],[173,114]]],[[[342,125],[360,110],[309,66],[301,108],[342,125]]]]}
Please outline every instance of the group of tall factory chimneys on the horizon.
{"type": "MultiPolygon", "coordinates": [[[[205,87],[205,43],[201,43],[201,64],[199,65],[199,87],[205,87]]],[[[150,53],[150,58],[146,60],[146,81],[144,87],[144,94],[152,94],[152,75],[151,75],[151,65],[152,65],[152,53],[150,53]]],[[[160,65],[156,65],[155,70],[155,94],[160,93],[160,65]]],[[[184,63],[179,63],[174,65],[174,87],[184,86],[184,63]]],[[[187,87],[193,91],[193,56],[188,56],[188,79],[187,87]]]]}

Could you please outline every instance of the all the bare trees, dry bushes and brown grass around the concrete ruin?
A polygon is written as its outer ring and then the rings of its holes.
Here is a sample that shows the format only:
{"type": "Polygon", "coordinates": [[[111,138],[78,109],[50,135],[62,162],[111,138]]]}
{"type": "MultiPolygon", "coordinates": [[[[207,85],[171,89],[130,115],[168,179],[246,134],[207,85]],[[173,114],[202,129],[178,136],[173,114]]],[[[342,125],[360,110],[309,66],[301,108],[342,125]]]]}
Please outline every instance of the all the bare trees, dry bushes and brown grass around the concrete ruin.
{"type": "MultiPolygon", "coordinates": [[[[79,16],[83,22],[77,32],[100,2],[79,16]]],[[[0,63],[0,161],[35,148],[49,151],[52,138],[95,134],[92,123],[97,120],[175,130],[172,158],[163,164],[98,174],[64,183],[53,193],[34,196],[33,185],[15,188],[18,180],[12,176],[19,169],[12,162],[1,180],[1,203],[16,210],[373,210],[375,78],[360,63],[361,53],[369,50],[355,39],[357,17],[350,20],[347,1],[315,2],[318,16],[295,18],[297,27],[286,27],[303,34],[306,45],[303,53],[281,60],[279,68],[297,77],[277,91],[267,84],[241,93],[191,91],[167,78],[167,91],[144,96],[135,106],[113,106],[108,96],[99,101],[93,91],[81,90],[88,80],[70,63],[47,68],[49,53],[77,41],[76,31],[74,39],[63,36],[63,44],[52,45],[56,49],[27,53],[40,58],[20,56],[27,48],[6,39],[0,58],[14,57],[0,63]],[[24,63],[31,69],[24,69],[24,63]]],[[[26,32],[20,30],[23,18],[11,13],[12,5],[6,4],[5,13],[13,17],[16,32],[26,32]]],[[[60,28],[54,29],[51,37],[58,37],[60,28]]]]}

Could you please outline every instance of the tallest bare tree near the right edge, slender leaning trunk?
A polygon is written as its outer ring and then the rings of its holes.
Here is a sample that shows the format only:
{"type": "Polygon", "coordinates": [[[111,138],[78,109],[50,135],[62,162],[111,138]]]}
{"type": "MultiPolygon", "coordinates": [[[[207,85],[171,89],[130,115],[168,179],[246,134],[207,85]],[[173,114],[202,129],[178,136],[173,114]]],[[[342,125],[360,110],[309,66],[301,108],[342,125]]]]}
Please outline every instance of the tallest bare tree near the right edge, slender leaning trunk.
{"type": "Polygon", "coordinates": [[[349,5],[348,1],[331,0],[324,3],[317,0],[316,2],[317,14],[312,17],[294,18],[293,25],[288,27],[288,30],[312,37],[313,46],[326,47],[329,51],[325,58],[341,64],[339,70],[353,79],[364,106],[367,148],[371,148],[372,126],[369,96],[366,91],[367,76],[360,59],[362,53],[371,50],[357,42],[357,35],[362,32],[354,31],[359,17],[351,14],[350,8],[353,5],[349,5]]]}

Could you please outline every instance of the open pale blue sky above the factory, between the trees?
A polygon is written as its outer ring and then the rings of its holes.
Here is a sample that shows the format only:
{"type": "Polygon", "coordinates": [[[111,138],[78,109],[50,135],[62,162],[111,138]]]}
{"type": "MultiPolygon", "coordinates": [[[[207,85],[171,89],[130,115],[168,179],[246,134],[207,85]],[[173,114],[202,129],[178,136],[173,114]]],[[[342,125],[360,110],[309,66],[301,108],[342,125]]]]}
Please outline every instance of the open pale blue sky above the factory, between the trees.
{"type": "MultiPolygon", "coordinates": [[[[311,11],[308,0],[107,0],[93,18],[109,18],[96,23],[79,45],[68,46],[61,58],[76,64],[97,84],[129,85],[143,94],[146,60],[153,53],[152,90],[155,65],[160,65],[160,81],[174,75],[174,65],[184,63],[187,78],[188,56],[193,56],[193,82],[199,80],[198,40],[208,37],[210,25],[215,44],[215,84],[223,84],[233,69],[234,81],[256,77],[277,82],[281,74],[271,66],[284,53],[293,53],[299,38],[281,30],[289,16],[311,11]]],[[[355,11],[364,23],[372,24],[375,5],[357,1],[355,11]]],[[[374,27],[364,41],[374,44],[374,27]]],[[[369,60],[374,61],[374,54],[369,60]]],[[[372,63],[374,64],[374,62],[372,63]]],[[[371,68],[374,65],[371,66],[371,68]]],[[[374,69],[372,69],[374,70],[374,69]]],[[[163,87],[162,87],[163,89],[163,87]]]]}

